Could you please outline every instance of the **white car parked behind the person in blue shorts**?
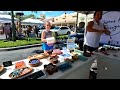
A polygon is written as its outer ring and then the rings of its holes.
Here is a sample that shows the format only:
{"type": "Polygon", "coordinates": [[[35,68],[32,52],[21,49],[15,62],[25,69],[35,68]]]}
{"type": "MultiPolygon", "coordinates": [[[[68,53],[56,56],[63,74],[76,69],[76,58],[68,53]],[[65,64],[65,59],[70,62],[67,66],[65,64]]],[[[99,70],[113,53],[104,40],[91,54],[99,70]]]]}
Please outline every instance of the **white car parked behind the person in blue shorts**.
{"type": "Polygon", "coordinates": [[[71,32],[71,29],[68,26],[56,26],[51,31],[55,32],[56,35],[69,35],[71,32]]]}

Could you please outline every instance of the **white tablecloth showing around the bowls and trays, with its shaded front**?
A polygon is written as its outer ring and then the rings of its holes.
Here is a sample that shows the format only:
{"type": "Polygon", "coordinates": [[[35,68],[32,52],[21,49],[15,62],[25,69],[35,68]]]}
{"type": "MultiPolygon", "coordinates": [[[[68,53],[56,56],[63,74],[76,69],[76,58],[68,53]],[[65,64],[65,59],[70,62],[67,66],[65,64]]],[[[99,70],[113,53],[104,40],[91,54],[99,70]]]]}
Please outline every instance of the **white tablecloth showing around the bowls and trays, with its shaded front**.
{"type": "MultiPolygon", "coordinates": [[[[86,61],[77,60],[74,63],[72,63],[72,68],[70,68],[64,72],[58,71],[58,72],[53,73],[52,75],[48,75],[46,72],[46,76],[43,77],[43,79],[89,79],[90,67],[95,59],[96,59],[96,56],[89,57],[88,60],[86,60],[86,61]]],[[[30,67],[28,64],[28,61],[29,61],[28,59],[24,59],[24,60],[20,60],[20,61],[24,61],[26,63],[26,66],[30,67]]],[[[50,63],[47,60],[47,58],[41,59],[40,61],[43,64],[38,67],[33,67],[34,70],[32,73],[35,73],[39,70],[43,70],[44,65],[50,63]]],[[[57,65],[64,63],[63,60],[59,60],[59,61],[60,62],[57,65]]],[[[19,62],[19,61],[13,62],[12,66],[5,67],[6,70],[0,74],[1,79],[10,79],[9,74],[15,69],[16,62],[19,62]]],[[[32,73],[30,73],[30,74],[32,74],[32,73]]],[[[29,75],[29,74],[27,74],[27,75],[29,75]]]]}

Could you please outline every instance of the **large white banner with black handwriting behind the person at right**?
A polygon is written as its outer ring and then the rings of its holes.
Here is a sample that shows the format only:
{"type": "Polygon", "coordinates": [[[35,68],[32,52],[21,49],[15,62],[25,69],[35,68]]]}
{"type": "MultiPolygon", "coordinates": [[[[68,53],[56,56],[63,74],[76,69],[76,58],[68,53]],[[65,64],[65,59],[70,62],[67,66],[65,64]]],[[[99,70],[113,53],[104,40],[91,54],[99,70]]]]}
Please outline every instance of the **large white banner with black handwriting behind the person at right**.
{"type": "Polygon", "coordinates": [[[111,32],[111,35],[102,34],[100,43],[120,46],[120,12],[105,12],[101,21],[111,32]]]}

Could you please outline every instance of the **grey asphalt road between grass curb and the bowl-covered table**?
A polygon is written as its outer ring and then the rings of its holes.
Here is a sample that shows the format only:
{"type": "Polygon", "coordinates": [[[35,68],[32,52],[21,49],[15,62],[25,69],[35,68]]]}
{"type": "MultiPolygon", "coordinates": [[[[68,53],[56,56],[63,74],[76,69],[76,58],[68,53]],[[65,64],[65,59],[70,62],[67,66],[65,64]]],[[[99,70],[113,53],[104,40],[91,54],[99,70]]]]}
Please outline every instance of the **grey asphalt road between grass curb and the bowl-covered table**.
{"type": "Polygon", "coordinates": [[[40,44],[6,49],[0,48],[0,64],[5,61],[19,61],[26,59],[29,55],[37,54],[40,50],[40,44]]]}

